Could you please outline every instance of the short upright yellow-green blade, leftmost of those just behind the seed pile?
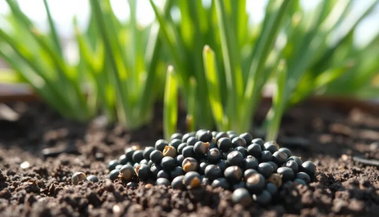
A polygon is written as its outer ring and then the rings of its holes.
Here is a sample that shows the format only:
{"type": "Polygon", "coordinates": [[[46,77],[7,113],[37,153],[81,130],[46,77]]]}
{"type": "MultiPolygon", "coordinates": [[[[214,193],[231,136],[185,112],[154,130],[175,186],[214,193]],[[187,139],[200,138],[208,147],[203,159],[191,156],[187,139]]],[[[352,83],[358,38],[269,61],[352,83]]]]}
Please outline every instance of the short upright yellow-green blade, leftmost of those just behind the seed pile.
{"type": "Polygon", "coordinates": [[[163,131],[164,138],[169,139],[176,131],[178,122],[178,83],[175,78],[174,68],[167,68],[166,85],[163,100],[163,131]]]}

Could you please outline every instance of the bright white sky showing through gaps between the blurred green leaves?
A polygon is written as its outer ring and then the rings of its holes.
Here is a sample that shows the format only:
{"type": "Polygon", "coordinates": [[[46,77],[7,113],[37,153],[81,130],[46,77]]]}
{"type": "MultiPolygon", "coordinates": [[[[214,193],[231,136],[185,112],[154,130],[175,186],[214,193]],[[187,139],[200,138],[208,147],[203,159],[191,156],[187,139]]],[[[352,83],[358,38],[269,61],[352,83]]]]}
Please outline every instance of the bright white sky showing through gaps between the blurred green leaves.
{"type": "MultiPolygon", "coordinates": [[[[47,15],[42,0],[18,0],[21,9],[30,17],[39,29],[47,30],[47,15]]],[[[155,0],[157,3],[161,0],[155,0]]],[[[203,0],[204,3],[210,0],[203,0]]],[[[264,7],[267,0],[247,0],[247,12],[251,15],[252,22],[259,22],[264,16],[264,7]]],[[[312,9],[320,0],[302,0],[306,9],[312,9]]],[[[364,9],[372,0],[354,0],[352,15],[364,9]]],[[[127,0],[111,0],[114,12],[121,20],[129,17],[129,6],[127,0]]],[[[88,0],[48,0],[58,32],[63,37],[71,37],[73,34],[73,17],[76,16],[81,27],[88,23],[89,5],[88,0]]],[[[0,0],[0,22],[1,15],[9,12],[5,0],[0,0]]],[[[147,25],[154,19],[154,14],[149,0],[137,1],[137,17],[141,25],[147,25]]],[[[0,23],[1,24],[1,23],[0,23]]],[[[356,43],[365,43],[379,31],[379,4],[372,15],[366,18],[359,26],[355,35],[356,43]]]]}

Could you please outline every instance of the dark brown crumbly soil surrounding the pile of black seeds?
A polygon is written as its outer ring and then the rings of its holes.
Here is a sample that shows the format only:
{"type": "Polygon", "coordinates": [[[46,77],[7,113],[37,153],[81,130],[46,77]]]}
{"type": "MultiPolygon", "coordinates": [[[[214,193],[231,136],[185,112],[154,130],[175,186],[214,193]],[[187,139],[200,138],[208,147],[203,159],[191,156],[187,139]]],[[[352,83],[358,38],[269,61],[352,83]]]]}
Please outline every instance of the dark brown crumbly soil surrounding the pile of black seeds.
{"type": "MultiPolygon", "coordinates": [[[[38,103],[11,107],[20,118],[0,120],[1,217],[376,216],[379,210],[378,168],[355,161],[375,164],[372,159],[379,158],[379,144],[370,145],[379,140],[378,111],[320,102],[291,109],[283,118],[279,144],[312,160],[318,169],[315,180],[309,186],[284,186],[274,205],[244,208],[231,202],[230,191],[209,186],[180,191],[140,183],[131,189],[106,180],[106,163],[125,147],[153,145],[162,137],[159,110],[151,125],[130,131],[104,127],[101,118],[88,125],[67,121],[38,103]],[[71,154],[59,154],[62,150],[71,154]],[[102,180],[73,185],[71,175],[77,171],[102,180]]],[[[257,123],[265,108],[261,106],[257,123]]]]}

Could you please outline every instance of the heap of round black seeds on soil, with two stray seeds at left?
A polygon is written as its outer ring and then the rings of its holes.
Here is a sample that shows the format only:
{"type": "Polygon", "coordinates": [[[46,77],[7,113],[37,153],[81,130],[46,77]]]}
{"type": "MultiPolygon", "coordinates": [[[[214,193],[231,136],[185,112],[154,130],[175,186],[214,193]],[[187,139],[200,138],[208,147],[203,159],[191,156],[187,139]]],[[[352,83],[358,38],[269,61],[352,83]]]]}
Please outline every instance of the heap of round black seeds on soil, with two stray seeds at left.
{"type": "MultiPolygon", "coordinates": [[[[170,142],[159,139],[154,147],[141,150],[132,146],[118,160],[108,164],[109,179],[122,179],[127,186],[139,181],[175,189],[192,189],[211,185],[232,190],[235,203],[248,205],[253,200],[267,205],[286,182],[306,185],[316,166],[292,156],[288,148],[275,141],[265,142],[245,132],[198,130],[174,133],[170,142]]],[[[74,184],[82,180],[97,182],[95,175],[77,172],[74,184]]]]}

